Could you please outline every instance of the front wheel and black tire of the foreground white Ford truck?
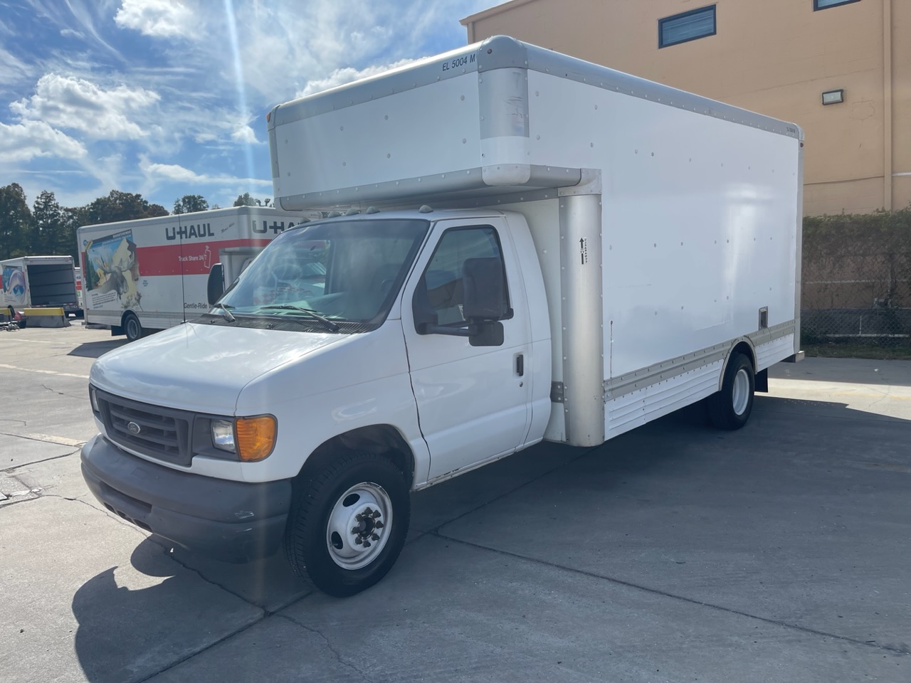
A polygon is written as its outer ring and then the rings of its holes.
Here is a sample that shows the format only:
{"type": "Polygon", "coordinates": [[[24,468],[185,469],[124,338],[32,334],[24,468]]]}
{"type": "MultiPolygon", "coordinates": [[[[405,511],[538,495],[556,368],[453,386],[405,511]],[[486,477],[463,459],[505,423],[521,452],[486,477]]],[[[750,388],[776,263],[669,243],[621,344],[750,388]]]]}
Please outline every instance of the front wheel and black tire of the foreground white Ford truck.
{"type": "Polygon", "coordinates": [[[395,564],[410,517],[408,484],[392,461],[341,454],[295,485],[285,553],[304,581],[331,596],[353,596],[395,564]]]}

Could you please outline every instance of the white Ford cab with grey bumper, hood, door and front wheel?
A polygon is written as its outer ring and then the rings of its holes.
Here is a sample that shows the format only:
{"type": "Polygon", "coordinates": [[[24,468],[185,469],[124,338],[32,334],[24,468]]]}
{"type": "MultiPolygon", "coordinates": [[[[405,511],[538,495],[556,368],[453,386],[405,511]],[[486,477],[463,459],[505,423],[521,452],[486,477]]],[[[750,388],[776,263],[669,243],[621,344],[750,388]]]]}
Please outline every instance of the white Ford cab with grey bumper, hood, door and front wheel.
{"type": "Polygon", "coordinates": [[[285,230],[209,312],[93,366],[87,482],[177,545],[243,561],[284,543],[322,589],[362,589],[401,549],[409,491],[543,437],[534,251],[503,211],[285,230]]]}

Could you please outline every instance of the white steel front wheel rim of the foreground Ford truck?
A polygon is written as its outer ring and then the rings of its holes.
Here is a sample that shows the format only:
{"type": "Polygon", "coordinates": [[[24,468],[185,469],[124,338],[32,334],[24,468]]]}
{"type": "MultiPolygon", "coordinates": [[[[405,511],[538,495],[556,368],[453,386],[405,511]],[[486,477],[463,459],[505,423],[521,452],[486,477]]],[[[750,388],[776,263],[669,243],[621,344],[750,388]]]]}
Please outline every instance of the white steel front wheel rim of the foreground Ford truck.
{"type": "Polygon", "coordinates": [[[383,486],[354,484],[335,501],[326,524],[326,547],[343,569],[360,569],[383,552],[393,525],[393,502],[383,486]]]}

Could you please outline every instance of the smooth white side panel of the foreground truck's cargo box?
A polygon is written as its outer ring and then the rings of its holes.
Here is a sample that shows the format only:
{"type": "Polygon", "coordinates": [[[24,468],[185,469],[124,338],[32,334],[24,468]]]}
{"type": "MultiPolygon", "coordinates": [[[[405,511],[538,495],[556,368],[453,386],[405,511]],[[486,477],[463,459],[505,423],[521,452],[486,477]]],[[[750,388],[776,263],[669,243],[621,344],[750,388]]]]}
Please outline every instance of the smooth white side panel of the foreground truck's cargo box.
{"type": "Polygon", "coordinates": [[[606,379],[758,331],[763,307],[769,327],[793,321],[797,139],[547,74],[529,83],[533,160],[603,169],[606,379]],[[537,139],[559,126],[589,144],[537,139]]]}

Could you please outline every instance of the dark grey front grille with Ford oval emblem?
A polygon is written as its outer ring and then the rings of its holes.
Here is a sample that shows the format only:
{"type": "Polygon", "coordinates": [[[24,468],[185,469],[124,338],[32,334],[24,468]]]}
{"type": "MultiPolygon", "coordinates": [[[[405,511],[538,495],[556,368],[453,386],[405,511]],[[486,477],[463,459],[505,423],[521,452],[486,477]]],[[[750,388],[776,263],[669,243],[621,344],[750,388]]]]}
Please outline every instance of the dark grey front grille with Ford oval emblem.
{"type": "Polygon", "coordinates": [[[189,465],[193,413],[97,392],[107,436],[114,443],[169,463],[189,465]]]}

